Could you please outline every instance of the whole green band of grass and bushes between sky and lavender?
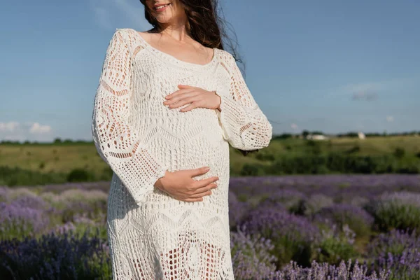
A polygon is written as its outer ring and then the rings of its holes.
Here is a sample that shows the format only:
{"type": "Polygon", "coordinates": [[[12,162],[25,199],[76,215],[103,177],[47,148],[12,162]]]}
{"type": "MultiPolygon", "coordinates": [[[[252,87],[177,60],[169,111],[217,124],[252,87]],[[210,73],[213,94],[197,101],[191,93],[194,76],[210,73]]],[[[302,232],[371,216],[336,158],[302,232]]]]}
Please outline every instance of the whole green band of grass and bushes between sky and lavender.
{"type": "MultiPolygon", "coordinates": [[[[304,131],[302,136],[316,133],[322,132],[304,131]]],[[[363,141],[351,138],[356,134],[328,141],[299,139],[293,134],[274,135],[269,147],[246,157],[230,148],[230,174],[420,174],[419,137],[380,135],[372,134],[363,141]]],[[[3,185],[110,181],[113,176],[111,168],[94,151],[92,142],[55,139],[54,144],[2,143],[0,166],[5,167],[0,170],[0,183],[3,185]],[[20,168],[11,168],[15,166],[20,168]]]]}

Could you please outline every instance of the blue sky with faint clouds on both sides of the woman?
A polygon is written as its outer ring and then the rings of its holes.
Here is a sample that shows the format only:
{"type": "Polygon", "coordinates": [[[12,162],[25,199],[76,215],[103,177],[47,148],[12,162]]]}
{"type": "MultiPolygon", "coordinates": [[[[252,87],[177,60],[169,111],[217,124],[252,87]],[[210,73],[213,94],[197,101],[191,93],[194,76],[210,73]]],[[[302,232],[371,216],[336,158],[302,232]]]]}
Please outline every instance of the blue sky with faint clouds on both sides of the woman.
{"type": "MultiPolygon", "coordinates": [[[[420,130],[420,1],[219,0],[274,133],[420,130]]],[[[0,139],[91,140],[116,28],[151,28],[134,0],[6,1],[0,139]]]]}

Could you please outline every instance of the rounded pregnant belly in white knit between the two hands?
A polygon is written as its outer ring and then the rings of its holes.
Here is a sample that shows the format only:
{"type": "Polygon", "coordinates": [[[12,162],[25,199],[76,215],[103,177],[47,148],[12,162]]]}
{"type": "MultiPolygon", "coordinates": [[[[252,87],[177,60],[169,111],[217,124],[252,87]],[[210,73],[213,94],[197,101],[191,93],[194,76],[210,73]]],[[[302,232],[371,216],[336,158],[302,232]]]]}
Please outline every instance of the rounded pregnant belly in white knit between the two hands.
{"type": "Polygon", "coordinates": [[[171,112],[139,127],[152,155],[170,171],[209,166],[220,173],[229,156],[216,111],[197,108],[171,112]]]}

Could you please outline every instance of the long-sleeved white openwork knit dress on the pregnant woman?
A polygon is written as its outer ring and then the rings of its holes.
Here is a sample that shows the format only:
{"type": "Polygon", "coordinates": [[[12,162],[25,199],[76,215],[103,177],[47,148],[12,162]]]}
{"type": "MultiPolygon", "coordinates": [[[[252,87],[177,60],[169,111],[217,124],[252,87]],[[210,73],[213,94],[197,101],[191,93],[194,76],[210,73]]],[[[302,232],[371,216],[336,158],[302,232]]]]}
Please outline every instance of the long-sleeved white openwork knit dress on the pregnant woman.
{"type": "Polygon", "coordinates": [[[228,218],[229,144],[268,146],[272,126],[255,103],[235,58],[214,49],[194,64],[153,48],[139,32],[116,29],[92,116],[99,155],[113,170],[107,230],[113,279],[234,279],[228,218]],[[221,112],[165,106],[177,85],[216,91],[221,112]],[[202,202],[154,187],[165,171],[209,166],[218,176],[202,202]]]}

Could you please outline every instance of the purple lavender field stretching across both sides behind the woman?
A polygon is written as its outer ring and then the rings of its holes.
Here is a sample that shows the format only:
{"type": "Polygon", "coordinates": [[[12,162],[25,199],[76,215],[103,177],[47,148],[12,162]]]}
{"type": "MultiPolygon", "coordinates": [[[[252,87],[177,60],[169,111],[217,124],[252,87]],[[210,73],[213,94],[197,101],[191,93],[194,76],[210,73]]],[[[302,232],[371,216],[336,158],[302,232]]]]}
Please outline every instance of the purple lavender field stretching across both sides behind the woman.
{"type": "MultiPolygon", "coordinates": [[[[109,182],[0,187],[0,279],[111,279],[109,182]]],[[[235,279],[420,279],[420,176],[230,181],[235,279]]]]}

